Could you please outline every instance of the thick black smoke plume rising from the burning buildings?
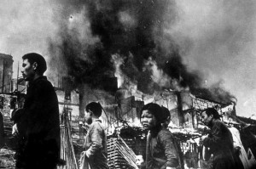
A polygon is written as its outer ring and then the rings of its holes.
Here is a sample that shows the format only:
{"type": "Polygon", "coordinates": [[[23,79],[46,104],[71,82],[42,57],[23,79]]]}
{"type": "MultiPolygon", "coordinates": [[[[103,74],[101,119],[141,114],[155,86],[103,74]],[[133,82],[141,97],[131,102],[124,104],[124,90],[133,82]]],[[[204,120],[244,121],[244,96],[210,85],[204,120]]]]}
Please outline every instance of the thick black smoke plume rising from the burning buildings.
{"type": "MultiPolygon", "coordinates": [[[[120,69],[131,81],[137,82],[138,89],[144,93],[170,87],[189,88],[192,92],[201,89],[212,95],[211,90],[202,87],[202,75],[187,70],[179,47],[172,37],[164,34],[165,26],[177,20],[172,1],[85,0],[66,2],[62,8],[63,18],[58,20],[60,36],[58,42],[50,42],[49,52],[67,66],[67,71],[63,71],[63,66],[55,66],[59,69],[57,71],[71,76],[74,83],[101,87],[102,79],[113,77],[112,55],[118,54],[124,60],[120,69]],[[70,26],[70,20],[79,20],[78,23],[86,26],[70,26]],[[85,37],[81,34],[84,31],[87,32],[85,37]],[[172,82],[168,84],[171,85],[160,86],[154,82],[153,70],[149,69],[150,65],[149,68],[145,66],[148,59],[170,77],[168,81],[172,82]]],[[[52,65],[57,65],[54,60],[52,65]]],[[[229,97],[230,94],[226,93],[220,98],[229,97]]]]}

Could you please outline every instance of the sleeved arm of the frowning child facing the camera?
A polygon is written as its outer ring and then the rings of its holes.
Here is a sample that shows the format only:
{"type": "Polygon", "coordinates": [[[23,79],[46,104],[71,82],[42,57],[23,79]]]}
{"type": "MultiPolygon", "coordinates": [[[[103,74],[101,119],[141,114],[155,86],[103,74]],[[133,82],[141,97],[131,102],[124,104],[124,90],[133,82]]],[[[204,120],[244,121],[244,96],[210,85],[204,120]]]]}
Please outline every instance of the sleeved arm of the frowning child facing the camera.
{"type": "Polygon", "coordinates": [[[166,153],[166,168],[176,168],[178,166],[177,159],[177,149],[175,149],[175,145],[173,144],[173,140],[171,132],[162,132],[160,134],[160,142],[163,145],[166,153]]]}

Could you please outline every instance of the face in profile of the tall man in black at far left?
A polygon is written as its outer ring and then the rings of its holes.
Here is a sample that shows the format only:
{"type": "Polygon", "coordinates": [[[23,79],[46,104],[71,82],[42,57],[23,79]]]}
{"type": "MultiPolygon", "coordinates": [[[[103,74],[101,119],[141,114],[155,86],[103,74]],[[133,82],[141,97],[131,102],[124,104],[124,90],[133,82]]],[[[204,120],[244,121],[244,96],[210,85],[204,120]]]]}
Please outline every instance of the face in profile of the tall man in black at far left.
{"type": "Polygon", "coordinates": [[[31,65],[28,62],[28,59],[24,59],[22,63],[22,69],[21,69],[22,76],[24,77],[25,81],[32,81],[34,78],[36,72],[35,72],[35,66],[31,65]]]}

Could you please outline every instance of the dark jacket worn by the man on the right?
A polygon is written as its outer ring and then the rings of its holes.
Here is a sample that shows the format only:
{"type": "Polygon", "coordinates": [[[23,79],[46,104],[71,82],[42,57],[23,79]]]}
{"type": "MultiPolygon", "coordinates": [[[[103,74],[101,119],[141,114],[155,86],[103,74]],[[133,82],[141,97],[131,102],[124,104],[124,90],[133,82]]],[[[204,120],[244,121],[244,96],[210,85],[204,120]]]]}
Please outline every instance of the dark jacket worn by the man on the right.
{"type": "Polygon", "coordinates": [[[213,168],[235,168],[233,138],[230,130],[219,120],[212,121],[209,136],[203,145],[210,148],[213,154],[213,168]]]}

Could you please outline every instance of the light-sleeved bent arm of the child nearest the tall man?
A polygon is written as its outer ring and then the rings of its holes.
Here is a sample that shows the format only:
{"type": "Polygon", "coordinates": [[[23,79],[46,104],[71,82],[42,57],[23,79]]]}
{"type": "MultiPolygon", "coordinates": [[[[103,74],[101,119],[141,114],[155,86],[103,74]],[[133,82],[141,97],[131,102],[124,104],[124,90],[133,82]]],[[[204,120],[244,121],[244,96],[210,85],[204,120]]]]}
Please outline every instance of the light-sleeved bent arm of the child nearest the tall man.
{"type": "Polygon", "coordinates": [[[103,129],[99,123],[93,125],[90,132],[91,144],[90,148],[85,151],[86,156],[93,158],[99,149],[102,149],[103,129]]]}

